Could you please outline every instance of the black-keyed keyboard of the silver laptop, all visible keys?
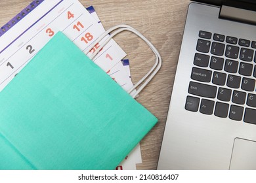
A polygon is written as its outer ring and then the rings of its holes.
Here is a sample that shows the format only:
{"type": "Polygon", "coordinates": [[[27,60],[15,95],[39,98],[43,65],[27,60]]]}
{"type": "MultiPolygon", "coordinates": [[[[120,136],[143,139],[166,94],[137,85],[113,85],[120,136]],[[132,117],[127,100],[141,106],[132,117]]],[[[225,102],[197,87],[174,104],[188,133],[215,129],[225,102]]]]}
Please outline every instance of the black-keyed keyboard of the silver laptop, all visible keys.
{"type": "Polygon", "coordinates": [[[200,31],[186,110],[256,124],[255,50],[256,41],[200,31]]]}

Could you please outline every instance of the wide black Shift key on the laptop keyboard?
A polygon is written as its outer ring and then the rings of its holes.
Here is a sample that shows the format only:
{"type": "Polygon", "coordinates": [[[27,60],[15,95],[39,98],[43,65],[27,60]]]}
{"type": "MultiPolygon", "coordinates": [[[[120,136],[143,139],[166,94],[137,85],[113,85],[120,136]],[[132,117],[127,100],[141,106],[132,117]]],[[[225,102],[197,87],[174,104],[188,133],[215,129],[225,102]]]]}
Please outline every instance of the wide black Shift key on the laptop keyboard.
{"type": "Polygon", "coordinates": [[[207,84],[200,84],[198,82],[190,82],[188,93],[214,99],[216,97],[217,87],[207,84]]]}

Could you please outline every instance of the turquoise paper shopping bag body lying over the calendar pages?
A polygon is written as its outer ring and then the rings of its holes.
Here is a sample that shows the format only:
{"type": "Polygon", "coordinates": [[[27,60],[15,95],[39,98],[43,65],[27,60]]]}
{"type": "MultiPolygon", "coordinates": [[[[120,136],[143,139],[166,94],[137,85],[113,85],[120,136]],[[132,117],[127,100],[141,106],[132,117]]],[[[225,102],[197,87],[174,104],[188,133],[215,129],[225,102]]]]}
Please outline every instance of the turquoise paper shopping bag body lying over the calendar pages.
{"type": "Polygon", "coordinates": [[[60,32],[0,104],[0,169],[115,169],[158,121],[60,32]]]}

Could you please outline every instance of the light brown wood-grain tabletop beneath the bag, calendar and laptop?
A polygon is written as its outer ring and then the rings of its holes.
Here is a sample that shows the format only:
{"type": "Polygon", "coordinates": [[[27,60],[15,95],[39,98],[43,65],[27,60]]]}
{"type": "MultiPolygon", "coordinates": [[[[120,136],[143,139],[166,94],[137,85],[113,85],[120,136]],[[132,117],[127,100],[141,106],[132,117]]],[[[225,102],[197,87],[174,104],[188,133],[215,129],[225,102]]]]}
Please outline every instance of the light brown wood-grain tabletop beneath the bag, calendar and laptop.
{"type": "MultiPolygon", "coordinates": [[[[31,1],[1,0],[0,24],[6,24],[31,1]]],[[[137,169],[156,169],[190,1],[81,0],[80,2],[85,7],[89,5],[95,7],[106,29],[117,24],[131,25],[147,37],[161,54],[163,65],[160,73],[137,99],[159,119],[154,129],[140,142],[142,164],[138,164],[137,169]]],[[[155,61],[154,54],[132,33],[121,33],[115,40],[128,54],[133,82],[136,83],[152,67],[155,61]]]]}

